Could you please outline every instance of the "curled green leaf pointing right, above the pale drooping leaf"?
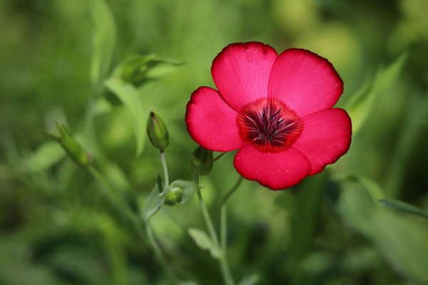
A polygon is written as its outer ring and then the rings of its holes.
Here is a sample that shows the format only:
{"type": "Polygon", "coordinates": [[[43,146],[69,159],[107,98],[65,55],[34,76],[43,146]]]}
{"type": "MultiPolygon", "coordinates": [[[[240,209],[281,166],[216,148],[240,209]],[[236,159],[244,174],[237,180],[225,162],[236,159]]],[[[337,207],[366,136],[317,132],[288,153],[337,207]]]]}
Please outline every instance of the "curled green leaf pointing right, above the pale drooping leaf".
{"type": "Polygon", "coordinates": [[[180,61],[151,56],[132,56],[120,63],[113,76],[135,86],[149,79],[156,79],[176,71],[183,65],[180,61]]]}

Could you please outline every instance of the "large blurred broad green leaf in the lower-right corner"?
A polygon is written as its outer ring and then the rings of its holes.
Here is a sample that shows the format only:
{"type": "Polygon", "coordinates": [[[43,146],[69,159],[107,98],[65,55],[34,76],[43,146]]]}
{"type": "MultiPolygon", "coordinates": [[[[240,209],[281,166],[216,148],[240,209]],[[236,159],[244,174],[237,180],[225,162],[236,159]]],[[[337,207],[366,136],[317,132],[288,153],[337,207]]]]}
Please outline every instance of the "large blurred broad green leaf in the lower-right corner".
{"type": "Polygon", "coordinates": [[[376,207],[369,193],[359,186],[342,185],[345,190],[337,199],[337,212],[372,242],[399,274],[414,284],[428,284],[427,222],[376,207]]]}

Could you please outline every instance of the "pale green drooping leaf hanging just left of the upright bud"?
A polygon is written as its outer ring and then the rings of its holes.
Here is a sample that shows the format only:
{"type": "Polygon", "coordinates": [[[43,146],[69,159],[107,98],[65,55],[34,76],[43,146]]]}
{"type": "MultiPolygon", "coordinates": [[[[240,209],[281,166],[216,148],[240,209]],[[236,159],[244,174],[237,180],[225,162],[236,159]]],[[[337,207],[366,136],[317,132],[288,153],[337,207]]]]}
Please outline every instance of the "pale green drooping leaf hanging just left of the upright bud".
{"type": "Polygon", "coordinates": [[[136,137],[136,155],[141,155],[146,138],[146,131],[144,128],[146,127],[148,111],[141,105],[138,91],[133,85],[125,83],[117,78],[109,78],[105,85],[106,88],[115,94],[131,112],[134,135],[136,137]]]}

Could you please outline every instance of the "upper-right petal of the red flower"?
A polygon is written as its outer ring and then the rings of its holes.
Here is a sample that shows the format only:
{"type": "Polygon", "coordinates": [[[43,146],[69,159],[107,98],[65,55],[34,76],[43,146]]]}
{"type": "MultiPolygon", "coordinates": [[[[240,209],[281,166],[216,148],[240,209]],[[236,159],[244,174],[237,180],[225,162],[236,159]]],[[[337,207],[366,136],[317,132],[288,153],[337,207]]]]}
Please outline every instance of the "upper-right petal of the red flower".
{"type": "Polygon", "coordinates": [[[327,59],[290,48],[272,66],[267,94],[282,100],[302,118],[332,108],[342,92],[343,81],[327,59]]]}

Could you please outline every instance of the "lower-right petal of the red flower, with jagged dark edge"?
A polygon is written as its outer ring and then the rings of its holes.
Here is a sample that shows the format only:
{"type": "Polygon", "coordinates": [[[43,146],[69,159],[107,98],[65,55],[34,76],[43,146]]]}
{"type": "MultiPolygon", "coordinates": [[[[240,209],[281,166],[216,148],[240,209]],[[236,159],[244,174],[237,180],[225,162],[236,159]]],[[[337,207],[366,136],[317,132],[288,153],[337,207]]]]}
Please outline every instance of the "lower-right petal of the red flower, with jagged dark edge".
{"type": "Polygon", "coordinates": [[[321,172],[349,150],[352,126],[345,110],[322,110],[302,119],[303,130],[293,147],[310,161],[310,175],[321,172]]]}

